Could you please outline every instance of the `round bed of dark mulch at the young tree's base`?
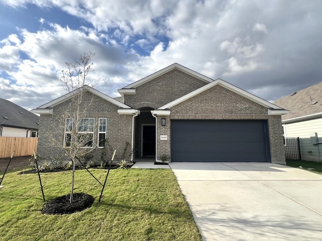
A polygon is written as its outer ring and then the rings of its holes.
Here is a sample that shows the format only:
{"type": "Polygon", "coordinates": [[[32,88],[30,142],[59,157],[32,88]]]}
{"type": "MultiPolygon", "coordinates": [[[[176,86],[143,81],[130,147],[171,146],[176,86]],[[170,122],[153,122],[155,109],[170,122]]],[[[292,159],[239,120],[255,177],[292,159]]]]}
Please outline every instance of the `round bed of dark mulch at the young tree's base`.
{"type": "Polygon", "coordinates": [[[74,193],[73,202],[69,202],[70,194],[56,197],[44,204],[43,214],[71,214],[82,211],[94,203],[94,197],[86,193],[74,193]]]}

